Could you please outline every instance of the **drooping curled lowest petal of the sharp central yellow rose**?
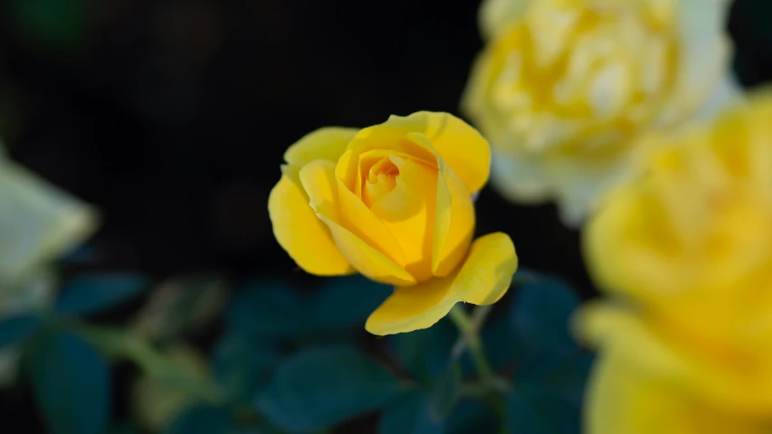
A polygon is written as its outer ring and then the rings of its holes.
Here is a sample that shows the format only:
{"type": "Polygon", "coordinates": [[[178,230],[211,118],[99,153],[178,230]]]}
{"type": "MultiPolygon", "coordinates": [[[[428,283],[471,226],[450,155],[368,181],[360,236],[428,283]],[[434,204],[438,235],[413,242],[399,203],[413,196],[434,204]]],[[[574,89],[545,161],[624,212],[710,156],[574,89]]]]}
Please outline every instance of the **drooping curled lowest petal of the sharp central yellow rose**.
{"type": "Polygon", "coordinates": [[[495,303],[510,288],[517,267],[517,255],[508,235],[491,233],[481,237],[472,244],[461,269],[446,278],[396,288],[367,318],[365,328],[374,335],[412,332],[434,325],[460,301],[495,303]]]}

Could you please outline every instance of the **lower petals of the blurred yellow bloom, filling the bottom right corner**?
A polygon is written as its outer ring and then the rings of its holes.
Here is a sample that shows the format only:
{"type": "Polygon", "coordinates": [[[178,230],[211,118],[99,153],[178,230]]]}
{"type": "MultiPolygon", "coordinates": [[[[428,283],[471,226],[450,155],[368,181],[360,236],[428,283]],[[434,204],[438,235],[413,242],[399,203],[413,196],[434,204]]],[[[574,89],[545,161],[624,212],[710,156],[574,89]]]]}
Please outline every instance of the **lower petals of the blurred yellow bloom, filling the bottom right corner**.
{"type": "Polygon", "coordinates": [[[758,373],[769,371],[768,359],[759,365],[719,348],[691,353],[710,344],[710,336],[677,336],[639,314],[592,306],[578,316],[580,334],[600,346],[587,385],[583,432],[772,432],[768,377],[758,373]]]}

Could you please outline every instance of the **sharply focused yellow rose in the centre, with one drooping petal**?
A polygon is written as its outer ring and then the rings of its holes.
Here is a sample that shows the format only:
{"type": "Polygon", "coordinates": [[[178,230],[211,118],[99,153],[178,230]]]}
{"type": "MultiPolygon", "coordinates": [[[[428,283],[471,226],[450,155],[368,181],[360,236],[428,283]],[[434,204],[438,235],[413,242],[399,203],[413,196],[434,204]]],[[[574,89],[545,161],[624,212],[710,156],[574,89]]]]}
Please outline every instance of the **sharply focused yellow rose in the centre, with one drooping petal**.
{"type": "Polygon", "coordinates": [[[273,232],[302,269],[359,272],[396,286],[367,319],[376,335],[434,325],[463,301],[494,303],[518,259],[509,236],[472,243],[472,194],[488,142],[446,113],[321,128],[290,146],[268,202],[273,232]]]}

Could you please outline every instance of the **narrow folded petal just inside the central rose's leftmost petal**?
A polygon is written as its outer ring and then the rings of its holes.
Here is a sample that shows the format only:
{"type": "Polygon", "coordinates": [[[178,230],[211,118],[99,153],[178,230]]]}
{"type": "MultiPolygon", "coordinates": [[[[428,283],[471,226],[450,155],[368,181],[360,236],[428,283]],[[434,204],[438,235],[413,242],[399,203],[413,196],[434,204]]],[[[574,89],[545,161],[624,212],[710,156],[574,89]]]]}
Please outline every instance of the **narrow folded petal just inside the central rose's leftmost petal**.
{"type": "Polygon", "coordinates": [[[357,271],[368,278],[392,285],[415,283],[415,278],[405,269],[340,224],[334,163],[316,160],[304,165],[300,170],[300,181],[309,194],[310,207],[319,220],[327,224],[338,249],[357,271]]]}

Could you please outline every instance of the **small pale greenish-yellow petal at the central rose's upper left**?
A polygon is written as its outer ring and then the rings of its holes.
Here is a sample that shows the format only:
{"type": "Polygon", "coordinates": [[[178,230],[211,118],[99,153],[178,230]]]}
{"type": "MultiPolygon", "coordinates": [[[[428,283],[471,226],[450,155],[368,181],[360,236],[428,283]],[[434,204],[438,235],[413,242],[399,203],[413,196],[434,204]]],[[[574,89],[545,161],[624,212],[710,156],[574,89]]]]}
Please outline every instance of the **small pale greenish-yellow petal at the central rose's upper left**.
{"type": "Polygon", "coordinates": [[[357,131],[344,127],[319,128],[290,146],[284,153],[284,161],[296,167],[318,159],[338,161],[357,131]]]}

